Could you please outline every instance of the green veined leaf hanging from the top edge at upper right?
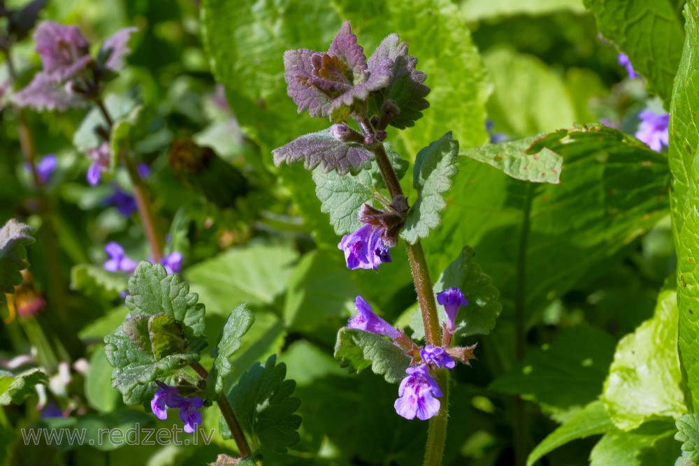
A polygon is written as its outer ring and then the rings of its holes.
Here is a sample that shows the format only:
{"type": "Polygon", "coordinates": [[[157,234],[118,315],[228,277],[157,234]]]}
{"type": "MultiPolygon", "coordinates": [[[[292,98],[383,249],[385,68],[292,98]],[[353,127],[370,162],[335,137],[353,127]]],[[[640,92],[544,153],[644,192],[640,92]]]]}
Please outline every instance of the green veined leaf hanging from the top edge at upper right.
{"type": "Polygon", "coordinates": [[[646,78],[648,90],[669,103],[684,42],[677,1],[584,2],[595,14],[600,32],[607,40],[619,45],[619,50],[628,55],[635,71],[646,78]]]}

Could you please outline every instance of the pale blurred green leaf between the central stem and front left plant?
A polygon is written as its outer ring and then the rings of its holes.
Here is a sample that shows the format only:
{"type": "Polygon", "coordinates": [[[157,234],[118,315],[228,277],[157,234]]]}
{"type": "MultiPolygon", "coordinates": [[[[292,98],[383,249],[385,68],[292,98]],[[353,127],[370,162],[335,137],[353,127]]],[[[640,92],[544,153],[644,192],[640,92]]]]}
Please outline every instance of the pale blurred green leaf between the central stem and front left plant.
{"type": "Polygon", "coordinates": [[[187,269],[210,312],[228,313],[241,303],[271,304],[284,289],[298,253],[282,245],[231,248],[187,269]]]}

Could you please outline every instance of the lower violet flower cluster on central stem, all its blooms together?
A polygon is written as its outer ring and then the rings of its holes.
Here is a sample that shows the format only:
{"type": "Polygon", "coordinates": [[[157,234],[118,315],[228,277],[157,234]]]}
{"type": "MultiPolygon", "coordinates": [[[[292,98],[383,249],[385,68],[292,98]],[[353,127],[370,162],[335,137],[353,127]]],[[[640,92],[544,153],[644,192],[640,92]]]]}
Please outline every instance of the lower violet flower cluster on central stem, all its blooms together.
{"type": "Polygon", "coordinates": [[[396,413],[406,419],[417,417],[424,421],[439,412],[440,401],[436,398],[442,396],[442,391],[431,374],[433,367],[453,369],[456,367],[457,359],[470,365],[468,360],[473,358],[475,345],[451,347],[452,335],[456,329],[456,314],[459,312],[459,307],[468,305],[463,293],[458,288],[450,288],[438,293],[437,299],[438,303],[445,306],[447,312],[441,347],[427,344],[418,349],[415,342],[405,333],[377,316],[361,296],[357,296],[354,300],[357,314],[347,323],[348,328],[391,338],[394,344],[413,358],[410,367],[405,370],[408,376],[398,386],[398,399],[394,403],[396,413]]]}

